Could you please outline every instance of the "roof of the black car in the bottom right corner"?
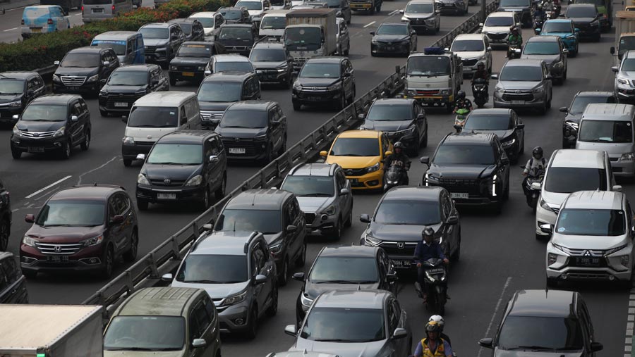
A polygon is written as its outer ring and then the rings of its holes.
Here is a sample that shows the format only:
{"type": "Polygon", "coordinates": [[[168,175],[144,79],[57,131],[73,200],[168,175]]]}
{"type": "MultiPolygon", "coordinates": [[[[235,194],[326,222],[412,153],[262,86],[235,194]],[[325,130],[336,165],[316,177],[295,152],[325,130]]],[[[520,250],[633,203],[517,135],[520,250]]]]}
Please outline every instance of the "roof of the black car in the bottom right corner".
{"type": "Polygon", "coordinates": [[[575,311],[577,292],[566,290],[519,290],[509,302],[509,316],[562,317],[575,311]]]}

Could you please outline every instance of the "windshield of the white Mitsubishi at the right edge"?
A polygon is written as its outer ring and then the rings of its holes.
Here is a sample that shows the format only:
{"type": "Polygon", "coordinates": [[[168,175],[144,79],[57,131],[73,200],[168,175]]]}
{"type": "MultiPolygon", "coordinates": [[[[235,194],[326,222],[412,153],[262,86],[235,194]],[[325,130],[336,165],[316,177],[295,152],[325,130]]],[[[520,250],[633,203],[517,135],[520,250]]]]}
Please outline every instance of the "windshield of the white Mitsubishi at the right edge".
{"type": "Polygon", "coordinates": [[[555,232],[565,235],[615,237],[626,232],[626,220],[621,210],[567,208],[560,211],[555,232]]]}

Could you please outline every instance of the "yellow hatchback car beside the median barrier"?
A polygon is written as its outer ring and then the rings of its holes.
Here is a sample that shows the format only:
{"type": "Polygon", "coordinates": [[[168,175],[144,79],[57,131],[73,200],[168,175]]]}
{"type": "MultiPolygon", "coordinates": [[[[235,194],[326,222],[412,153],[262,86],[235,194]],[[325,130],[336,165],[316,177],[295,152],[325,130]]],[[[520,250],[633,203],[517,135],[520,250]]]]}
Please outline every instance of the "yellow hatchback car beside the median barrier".
{"type": "Polygon", "coordinates": [[[349,130],[333,141],[329,152],[320,151],[326,163],[344,168],[353,189],[384,187],[384,158],[392,154],[392,143],[386,134],[375,130],[349,130]]]}

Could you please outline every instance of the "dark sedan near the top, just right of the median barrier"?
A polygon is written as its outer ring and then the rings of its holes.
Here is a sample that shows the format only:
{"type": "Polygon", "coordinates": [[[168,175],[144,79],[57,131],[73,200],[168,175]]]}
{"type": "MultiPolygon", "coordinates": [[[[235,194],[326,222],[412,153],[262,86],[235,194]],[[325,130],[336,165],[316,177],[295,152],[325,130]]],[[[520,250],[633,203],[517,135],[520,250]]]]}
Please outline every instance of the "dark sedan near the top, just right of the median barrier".
{"type": "Polygon", "coordinates": [[[379,54],[404,54],[409,56],[417,50],[417,32],[410,23],[382,23],[371,31],[370,56],[379,54]]]}

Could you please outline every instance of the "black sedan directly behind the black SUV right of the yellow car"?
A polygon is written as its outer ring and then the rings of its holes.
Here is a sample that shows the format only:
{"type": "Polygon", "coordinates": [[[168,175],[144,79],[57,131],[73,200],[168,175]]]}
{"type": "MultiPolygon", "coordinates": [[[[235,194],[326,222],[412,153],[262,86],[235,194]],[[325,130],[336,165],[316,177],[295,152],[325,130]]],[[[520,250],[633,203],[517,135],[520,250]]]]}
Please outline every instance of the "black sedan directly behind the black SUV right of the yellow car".
{"type": "Polygon", "coordinates": [[[496,134],[514,163],[525,151],[525,124],[512,109],[476,109],[466,118],[464,130],[496,134]]]}

